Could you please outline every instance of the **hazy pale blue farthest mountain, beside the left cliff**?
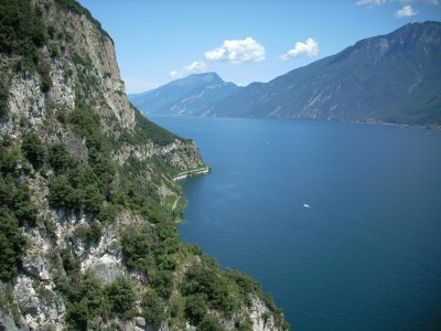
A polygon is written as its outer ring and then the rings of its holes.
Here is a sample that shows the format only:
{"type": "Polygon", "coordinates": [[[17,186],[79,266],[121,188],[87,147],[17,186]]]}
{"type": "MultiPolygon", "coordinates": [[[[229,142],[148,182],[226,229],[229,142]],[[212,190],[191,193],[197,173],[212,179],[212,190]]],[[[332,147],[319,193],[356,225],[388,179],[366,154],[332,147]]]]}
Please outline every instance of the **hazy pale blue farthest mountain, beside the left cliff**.
{"type": "Polygon", "coordinates": [[[204,115],[208,106],[235,95],[239,89],[235,84],[224,82],[216,73],[205,73],[128,97],[143,114],[204,115]]]}

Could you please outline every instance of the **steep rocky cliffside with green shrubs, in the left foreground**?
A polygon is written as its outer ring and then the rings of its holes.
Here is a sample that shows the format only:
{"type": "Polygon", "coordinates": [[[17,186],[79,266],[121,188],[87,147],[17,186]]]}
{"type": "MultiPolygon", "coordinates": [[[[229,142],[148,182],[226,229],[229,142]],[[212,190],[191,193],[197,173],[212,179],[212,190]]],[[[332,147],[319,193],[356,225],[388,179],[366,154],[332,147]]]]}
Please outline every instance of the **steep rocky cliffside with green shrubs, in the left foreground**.
{"type": "Polygon", "coordinates": [[[192,140],[129,104],[73,0],[0,1],[0,330],[286,330],[176,224],[192,140]]]}

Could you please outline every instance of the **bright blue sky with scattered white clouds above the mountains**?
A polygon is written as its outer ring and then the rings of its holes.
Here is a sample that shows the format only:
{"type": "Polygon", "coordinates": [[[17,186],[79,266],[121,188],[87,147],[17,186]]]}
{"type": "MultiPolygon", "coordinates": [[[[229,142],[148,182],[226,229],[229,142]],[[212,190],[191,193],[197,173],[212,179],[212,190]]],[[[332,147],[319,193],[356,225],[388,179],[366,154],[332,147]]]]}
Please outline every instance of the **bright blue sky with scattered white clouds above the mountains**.
{"type": "Polygon", "coordinates": [[[441,0],[79,0],[115,41],[128,93],[216,72],[245,86],[415,21],[441,0]]]}

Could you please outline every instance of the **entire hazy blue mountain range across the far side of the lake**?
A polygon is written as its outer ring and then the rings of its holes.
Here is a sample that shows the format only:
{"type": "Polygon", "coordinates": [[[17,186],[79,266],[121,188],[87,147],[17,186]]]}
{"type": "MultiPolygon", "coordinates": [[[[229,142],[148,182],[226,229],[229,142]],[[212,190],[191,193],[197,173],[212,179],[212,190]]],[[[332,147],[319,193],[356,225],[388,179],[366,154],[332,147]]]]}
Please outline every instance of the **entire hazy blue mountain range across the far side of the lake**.
{"type": "Polygon", "coordinates": [[[409,23],[269,83],[193,75],[129,96],[141,110],[441,125],[441,23],[409,23]]]}

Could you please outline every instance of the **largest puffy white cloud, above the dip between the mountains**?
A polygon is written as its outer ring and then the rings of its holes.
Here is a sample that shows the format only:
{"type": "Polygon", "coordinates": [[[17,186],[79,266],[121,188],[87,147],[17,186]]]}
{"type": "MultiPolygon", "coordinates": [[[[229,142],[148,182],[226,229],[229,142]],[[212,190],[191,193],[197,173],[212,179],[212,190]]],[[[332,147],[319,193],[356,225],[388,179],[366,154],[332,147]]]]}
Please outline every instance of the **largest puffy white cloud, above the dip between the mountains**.
{"type": "Polygon", "coordinates": [[[259,62],[265,60],[265,47],[256,40],[246,39],[225,40],[220,47],[205,52],[205,58],[213,62],[259,62]]]}

